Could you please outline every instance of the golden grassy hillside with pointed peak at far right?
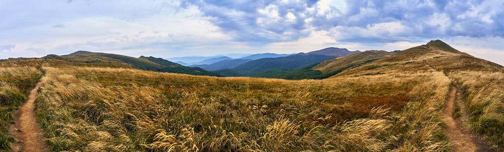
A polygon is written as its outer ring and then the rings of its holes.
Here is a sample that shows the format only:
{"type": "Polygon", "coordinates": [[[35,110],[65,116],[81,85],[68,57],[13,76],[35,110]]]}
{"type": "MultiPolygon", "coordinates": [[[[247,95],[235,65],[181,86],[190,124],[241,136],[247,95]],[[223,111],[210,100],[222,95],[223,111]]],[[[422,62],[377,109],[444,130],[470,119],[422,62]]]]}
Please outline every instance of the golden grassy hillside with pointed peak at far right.
{"type": "Polygon", "coordinates": [[[504,67],[453,49],[441,41],[345,70],[333,78],[392,74],[404,69],[430,68],[443,72],[464,91],[470,128],[492,145],[504,146],[504,67]]]}

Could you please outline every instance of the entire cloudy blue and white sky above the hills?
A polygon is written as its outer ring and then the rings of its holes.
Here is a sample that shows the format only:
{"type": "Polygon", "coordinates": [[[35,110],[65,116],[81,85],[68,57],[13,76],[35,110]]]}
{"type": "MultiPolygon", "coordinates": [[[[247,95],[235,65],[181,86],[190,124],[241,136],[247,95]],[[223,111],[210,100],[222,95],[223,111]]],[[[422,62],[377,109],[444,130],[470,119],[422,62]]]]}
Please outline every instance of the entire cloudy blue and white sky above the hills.
{"type": "Polygon", "coordinates": [[[0,0],[0,58],[404,50],[442,40],[504,65],[502,0],[0,0]]]}

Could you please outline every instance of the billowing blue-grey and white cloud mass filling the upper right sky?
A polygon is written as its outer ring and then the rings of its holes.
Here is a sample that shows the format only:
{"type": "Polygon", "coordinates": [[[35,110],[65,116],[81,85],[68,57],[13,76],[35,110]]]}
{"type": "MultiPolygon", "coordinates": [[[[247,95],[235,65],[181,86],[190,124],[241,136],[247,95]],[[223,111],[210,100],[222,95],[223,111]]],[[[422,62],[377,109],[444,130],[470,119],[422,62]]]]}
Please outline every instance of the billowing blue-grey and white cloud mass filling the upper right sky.
{"type": "Polygon", "coordinates": [[[348,0],[344,4],[342,8],[329,1],[187,1],[182,6],[197,6],[215,25],[233,33],[236,41],[245,42],[295,41],[308,36],[312,31],[305,29],[311,27],[338,30],[344,37],[335,39],[355,42],[404,41],[412,35],[420,39],[504,36],[504,10],[499,9],[503,1],[348,0]]]}

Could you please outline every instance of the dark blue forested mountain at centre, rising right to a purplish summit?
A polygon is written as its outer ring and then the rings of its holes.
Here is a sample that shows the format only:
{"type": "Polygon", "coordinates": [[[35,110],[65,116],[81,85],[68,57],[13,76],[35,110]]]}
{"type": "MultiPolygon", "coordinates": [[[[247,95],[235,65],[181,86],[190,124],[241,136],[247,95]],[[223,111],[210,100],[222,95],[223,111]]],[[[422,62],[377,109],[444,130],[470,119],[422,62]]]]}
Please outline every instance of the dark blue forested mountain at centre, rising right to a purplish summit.
{"type": "MultiPolygon", "coordinates": [[[[298,53],[285,57],[263,58],[243,63],[233,69],[249,77],[279,78],[292,70],[320,63],[335,57],[346,56],[359,51],[326,48],[308,53],[298,53]]],[[[226,76],[226,75],[224,75],[226,76]]]]}

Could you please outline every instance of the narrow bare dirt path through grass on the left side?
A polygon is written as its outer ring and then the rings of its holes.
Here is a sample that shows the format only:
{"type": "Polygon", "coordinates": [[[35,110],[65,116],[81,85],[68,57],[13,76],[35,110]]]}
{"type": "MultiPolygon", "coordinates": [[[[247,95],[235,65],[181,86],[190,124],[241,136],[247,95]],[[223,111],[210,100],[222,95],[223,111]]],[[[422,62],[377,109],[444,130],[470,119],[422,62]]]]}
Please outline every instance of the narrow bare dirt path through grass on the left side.
{"type": "Polygon", "coordinates": [[[19,107],[19,110],[14,111],[16,124],[9,127],[9,134],[20,143],[12,144],[13,151],[49,151],[34,113],[37,90],[41,85],[42,82],[37,83],[30,91],[26,102],[19,107]]]}

